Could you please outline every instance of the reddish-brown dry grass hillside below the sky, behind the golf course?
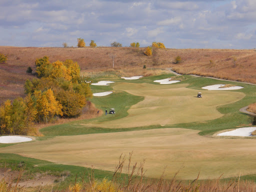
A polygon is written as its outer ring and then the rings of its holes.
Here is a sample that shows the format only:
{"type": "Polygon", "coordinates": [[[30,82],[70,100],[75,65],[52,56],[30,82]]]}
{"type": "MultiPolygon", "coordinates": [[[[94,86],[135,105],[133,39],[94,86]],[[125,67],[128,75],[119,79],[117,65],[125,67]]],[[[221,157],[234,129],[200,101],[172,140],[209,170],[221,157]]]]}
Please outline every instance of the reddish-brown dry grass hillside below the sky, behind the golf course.
{"type": "MultiPolygon", "coordinates": [[[[122,76],[157,74],[154,69],[173,67],[184,74],[198,74],[229,80],[256,83],[256,52],[236,49],[155,49],[152,56],[146,56],[144,48],[132,47],[8,47],[0,46],[0,53],[7,54],[6,63],[0,64],[0,103],[6,99],[24,96],[23,84],[27,78],[28,66],[35,69],[34,61],[44,55],[49,60],[72,59],[81,68],[81,72],[119,71],[122,76]],[[109,55],[116,55],[114,69],[109,55]],[[174,64],[174,58],[180,55],[181,62],[174,64]],[[237,58],[233,67],[232,56],[237,58]],[[209,63],[209,59],[214,62],[209,63]],[[146,69],[143,69],[143,65],[146,69]]],[[[160,72],[160,71],[158,71],[160,72]]],[[[86,73],[84,73],[86,74],[86,73]]]]}

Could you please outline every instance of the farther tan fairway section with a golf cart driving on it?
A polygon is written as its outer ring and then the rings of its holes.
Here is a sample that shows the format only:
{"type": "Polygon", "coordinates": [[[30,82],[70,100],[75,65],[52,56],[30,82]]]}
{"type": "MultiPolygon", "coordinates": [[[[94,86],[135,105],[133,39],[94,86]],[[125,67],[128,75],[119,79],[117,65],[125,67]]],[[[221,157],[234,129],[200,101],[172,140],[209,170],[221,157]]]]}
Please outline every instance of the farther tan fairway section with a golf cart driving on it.
{"type": "Polygon", "coordinates": [[[123,118],[90,123],[87,126],[125,128],[210,120],[223,116],[217,111],[217,106],[236,102],[245,96],[242,92],[204,90],[203,97],[197,98],[197,91],[200,90],[186,88],[188,85],[118,83],[113,87],[114,90],[143,96],[144,99],[132,105],[128,115],[123,118]]]}

